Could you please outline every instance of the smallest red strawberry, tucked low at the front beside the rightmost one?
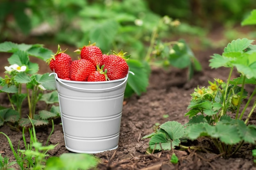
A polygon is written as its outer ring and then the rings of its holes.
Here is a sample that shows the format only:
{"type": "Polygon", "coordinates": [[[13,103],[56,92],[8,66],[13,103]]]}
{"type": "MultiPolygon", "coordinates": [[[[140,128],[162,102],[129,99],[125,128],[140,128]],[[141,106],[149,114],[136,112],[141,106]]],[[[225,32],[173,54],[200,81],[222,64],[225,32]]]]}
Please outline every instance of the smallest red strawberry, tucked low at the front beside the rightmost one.
{"type": "Polygon", "coordinates": [[[103,71],[104,65],[99,68],[97,65],[97,71],[92,72],[88,77],[88,82],[103,82],[108,80],[107,69],[103,71]]]}

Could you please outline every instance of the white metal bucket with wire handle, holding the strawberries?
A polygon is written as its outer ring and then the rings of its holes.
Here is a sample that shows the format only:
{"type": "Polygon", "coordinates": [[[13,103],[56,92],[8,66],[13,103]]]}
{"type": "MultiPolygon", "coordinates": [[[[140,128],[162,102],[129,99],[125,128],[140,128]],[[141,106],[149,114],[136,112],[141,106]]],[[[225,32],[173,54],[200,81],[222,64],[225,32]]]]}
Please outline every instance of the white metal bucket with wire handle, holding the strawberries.
{"type": "Polygon", "coordinates": [[[77,82],[52,74],[67,150],[92,154],[117,149],[128,75],[105,82],[77,82]]]}

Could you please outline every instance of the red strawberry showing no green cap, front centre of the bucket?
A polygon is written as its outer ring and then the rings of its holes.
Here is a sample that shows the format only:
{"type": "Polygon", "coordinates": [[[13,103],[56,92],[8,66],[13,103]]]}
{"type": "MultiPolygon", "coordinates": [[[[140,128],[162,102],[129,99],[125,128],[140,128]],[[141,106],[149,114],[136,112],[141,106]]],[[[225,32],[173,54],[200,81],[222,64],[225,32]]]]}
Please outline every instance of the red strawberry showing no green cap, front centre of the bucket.
{"type": "Polygon", "coordinates": [[[90,73],[95,71],[96,68],[92,62],[85,59],[74,60],[70,66],[70,79],[73,81],[87,81],[90,73]]]}

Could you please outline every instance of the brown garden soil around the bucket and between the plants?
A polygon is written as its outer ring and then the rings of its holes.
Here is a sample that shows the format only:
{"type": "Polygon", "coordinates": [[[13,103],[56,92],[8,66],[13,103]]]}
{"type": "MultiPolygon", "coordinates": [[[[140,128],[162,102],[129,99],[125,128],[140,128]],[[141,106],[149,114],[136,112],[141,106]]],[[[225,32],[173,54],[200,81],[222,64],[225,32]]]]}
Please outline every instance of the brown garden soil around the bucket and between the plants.
{"type": "MultiPolygon", "coordinates": [[[[56,50],[55,47],[50,49],[56,50]]],[[[124,101],[119,148],[95,154],[101,160],[98,169],[256,170],[251,152],[254,146],[248,144],[244,144],[240,152],[229,159],[210,152],[175,150],[174,152],[180,160],[177,165],[170,163],[171,151],[158,152],[151,155],[145,153],[148,147],[148,139],[141,138],[153,132],[155,123],[162,124],[166,121],[178,121],[181,124],[185,124],[188,121],[188,117],[184,117],[184,113],[187,112],[186,108],[191,99],[190,94],[197,85],[208,86],[208,80],[213,81],[215,77],[223,80],[227,79],[227,69],[211,70],[209,68],[210,55],[222,53],[222,51],[223,49],[194,51],[195,56],[203,66],[203,71],[196,73],[189,82],[186,81],[186,70],[152,68],[147,92],[141,96],[133,95],[124,101]],[[168,115],[169,117],[164,118],[163,115],[168,115]]],[[[3,64],[1,64],[1,69],[4,63],[7,63],[7,57],[0,58],[0,62],[3,64]]],[[[49,72],[49,69],[45,67],[45,63],[42,63],[41,68],[41,72],[49,72]]],[[[7,103],[4,94],[0,95],[0,103],[7,103]]],[[[255,123],[255,120],[252,120],[252,122],[255,123]]],[[[48,152],[50,156],[59,156],[69,152],[65,149],[63,131],[59,123],[60,119],[56,119],[54,122],[54,133],[49,140],[50,144],[59,144],[54,150],[48,152]]],[[[36,130],[38,140],[45,143],[52,130],[52,126],[44,126],[36,130]]],[[[0,127],[0,131],[10,137],[14,148],[17,149],[19,145],[20,149],[24,149],[21,132],[13,131],[9,126],[5,125],[0,127]]],[[[197,141],[197,143],[201,146],[209,145],[207,140],[197,141]]],[[[9,161],[14,160],[9,143],[3,135],[0,135],[0,153],[2,153],[2,156],[9,157],[9,161]]]]}

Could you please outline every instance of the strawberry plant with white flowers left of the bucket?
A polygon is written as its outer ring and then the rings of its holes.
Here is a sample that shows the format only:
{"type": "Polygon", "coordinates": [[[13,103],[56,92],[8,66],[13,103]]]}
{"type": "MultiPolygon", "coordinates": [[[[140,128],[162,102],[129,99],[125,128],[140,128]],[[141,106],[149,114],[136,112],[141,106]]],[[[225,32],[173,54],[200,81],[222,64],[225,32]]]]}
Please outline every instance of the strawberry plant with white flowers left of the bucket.
{"type": "Polygon", "coordinates": [[[47,105],[58,103],[58,94],[55,90],[55,80],[49,77],[49,73],[38,74],[39,66],[29,60],[29,56],[46,60],[52,51],[40,44],[15,44],[3,42],[0,44],[0,52],[12,53],[8,58],[10,66],[5,66],[5,76],[0,77],[1,93],[6,93],[9,106],[0,108],[0,126],[7,123],[18,129],[19,126],[29,126],[30,121],[22,117],[22,104],[27,99],[29,115],[35,126],[47,124],[49,118],[59,116],[58,106],[52,106],[49,110],[40,110],[37,113],[36,104],[39,101],[47,105]],[[45,93],[47,90],[52,91],[45,93]]]}

